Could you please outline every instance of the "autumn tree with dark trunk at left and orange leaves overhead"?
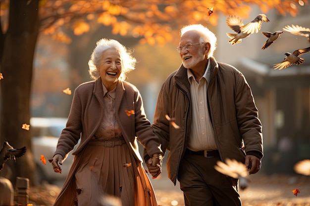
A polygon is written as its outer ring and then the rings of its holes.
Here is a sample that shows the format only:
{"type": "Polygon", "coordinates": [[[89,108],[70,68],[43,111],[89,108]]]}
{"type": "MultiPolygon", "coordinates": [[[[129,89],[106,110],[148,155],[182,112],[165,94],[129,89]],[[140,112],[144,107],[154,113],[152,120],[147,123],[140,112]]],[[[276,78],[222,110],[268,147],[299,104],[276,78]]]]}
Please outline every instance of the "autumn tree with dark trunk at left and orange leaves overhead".
{"type": "MultiPolygon", "coordinates": [[[[308,0],[0,0],[0,142],[27,147],[24,157],[8,161],[1,171],[35,183],[30,132],[30,95],[34,53],[39,34],[70,43],[66,35],[87,33],[95,25],[110,26],[112,34],[131,36],[140,43],[164,44],[177,39],[180,27],[216,25],[219,15],[249,16],[251,4],[262,12],[276,9],[295,16],[308,0]]],[[[51,60],[52,61],[52,60],[51,60]]],[[[31,130],[31,125],[30,125],[31,130]]]]}

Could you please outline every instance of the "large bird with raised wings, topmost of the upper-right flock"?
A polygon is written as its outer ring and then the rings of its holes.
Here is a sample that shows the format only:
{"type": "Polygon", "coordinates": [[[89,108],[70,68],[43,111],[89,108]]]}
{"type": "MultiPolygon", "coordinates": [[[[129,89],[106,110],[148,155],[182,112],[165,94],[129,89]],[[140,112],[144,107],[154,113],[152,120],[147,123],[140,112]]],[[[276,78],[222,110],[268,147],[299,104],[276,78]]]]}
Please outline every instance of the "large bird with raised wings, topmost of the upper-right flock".
{"type": "Polygon", "coordinates": [[[261,23],[269,22],[269,19],[265,14],[258,14],[258,16],[248,24],[244,25],[239,16],[229,16],[226,19],[227,26],[237,32],[236,34],[226,33],[226,35],[230,38],[228,41],[232,45],[236,43],[240,43],[243,38],[249,37],[250,34],[258,33],[261,28],[261,23]]]}

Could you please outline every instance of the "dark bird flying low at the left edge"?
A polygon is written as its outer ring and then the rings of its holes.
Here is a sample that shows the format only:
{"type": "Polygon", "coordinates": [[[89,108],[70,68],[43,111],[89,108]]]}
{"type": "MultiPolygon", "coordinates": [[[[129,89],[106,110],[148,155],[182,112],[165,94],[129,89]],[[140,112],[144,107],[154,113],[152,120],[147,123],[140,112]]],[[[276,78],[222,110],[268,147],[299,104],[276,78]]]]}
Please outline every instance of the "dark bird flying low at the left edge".
{"type": "Polygon", "coordinates": [[[0,171],[3,169],[4,163],[7,160],[16,160],[16,158],[22,157],[26,153],[26,147],[15,149],[8,144],[6,139],[4,140],[3,146],[0,150],[0,171]]]}

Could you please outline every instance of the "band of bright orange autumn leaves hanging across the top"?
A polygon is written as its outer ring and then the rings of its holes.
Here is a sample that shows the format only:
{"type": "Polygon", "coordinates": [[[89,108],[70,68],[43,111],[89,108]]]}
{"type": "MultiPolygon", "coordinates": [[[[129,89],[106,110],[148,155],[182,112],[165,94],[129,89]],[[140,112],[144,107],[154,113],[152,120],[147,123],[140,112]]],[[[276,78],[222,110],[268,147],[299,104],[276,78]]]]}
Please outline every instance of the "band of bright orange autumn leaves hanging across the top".
{"type": "MultiPolygon", "coordinates": [[[[70,43],[63,27],[71,27],[75,35],[90,31],[91,24],[111,26],[113,34],[140,38],[140,43],[164,44],[183,25],[200,23],[217,25],[220,14],[248,18],[251,5],[262,13],[276,9],[281,15],[298,14],[308,0],[41,0],[41,31],[57,41],[70,43]],[[168,29],[167,29],[168,28],[168,29]]],[[[7,16],[8,0],[1,0],[1,16],[7,16]]],[[[3,23],[3,28],[6,24],[3,23]]]]}

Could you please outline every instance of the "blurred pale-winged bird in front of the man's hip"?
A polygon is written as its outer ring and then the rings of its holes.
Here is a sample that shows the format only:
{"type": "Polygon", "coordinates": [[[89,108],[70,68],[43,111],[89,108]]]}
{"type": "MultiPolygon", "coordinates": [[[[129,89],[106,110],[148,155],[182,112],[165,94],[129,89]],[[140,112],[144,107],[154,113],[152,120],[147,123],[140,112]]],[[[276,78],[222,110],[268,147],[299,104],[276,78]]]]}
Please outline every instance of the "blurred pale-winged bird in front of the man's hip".
{"type": "Polygon", "coordinates": [[[225,175],[228,175],[232,178],[239,179],[239,185],[242,190],[248,187],[249,170],[245,164],[238,162],[234,159],[226,159],[225,163],[217,161],[217,165],[214,165],[214,168],[225,175]]]}

